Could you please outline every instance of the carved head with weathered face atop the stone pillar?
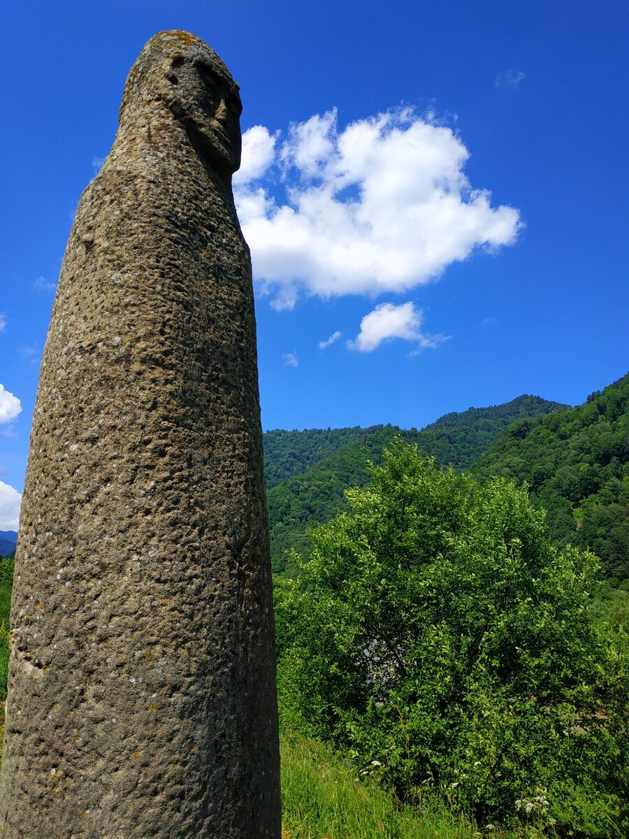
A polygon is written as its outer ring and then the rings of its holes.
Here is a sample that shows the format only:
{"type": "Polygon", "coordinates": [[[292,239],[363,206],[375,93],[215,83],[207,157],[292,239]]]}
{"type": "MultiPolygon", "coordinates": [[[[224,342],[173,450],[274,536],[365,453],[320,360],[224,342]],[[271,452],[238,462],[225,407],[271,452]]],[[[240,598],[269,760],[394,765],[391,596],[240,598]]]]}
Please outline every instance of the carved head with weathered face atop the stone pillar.
{"type": "Polygon", "coordinates": [[[204,41],[173,30],[160,32],[145,44],[127,78],[121,125],[136,120],[138,109],[156,101],[164,102],[182,122],[197,152],[220,175],[230,176],[238,169],[242,113],[238,86],[204,41]]]}

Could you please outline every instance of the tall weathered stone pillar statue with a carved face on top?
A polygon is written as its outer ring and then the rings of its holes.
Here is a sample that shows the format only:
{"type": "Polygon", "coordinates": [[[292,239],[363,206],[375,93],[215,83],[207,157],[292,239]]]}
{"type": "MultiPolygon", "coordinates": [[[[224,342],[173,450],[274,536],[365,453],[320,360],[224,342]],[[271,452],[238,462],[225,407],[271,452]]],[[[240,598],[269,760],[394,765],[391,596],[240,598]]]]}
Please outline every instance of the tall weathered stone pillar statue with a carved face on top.
{"type": "Polygon", "coordinates": [[[156,35],[76,211],[23,493],[0,836],[279,836],[241,109],[203,41],[156,35]]]}

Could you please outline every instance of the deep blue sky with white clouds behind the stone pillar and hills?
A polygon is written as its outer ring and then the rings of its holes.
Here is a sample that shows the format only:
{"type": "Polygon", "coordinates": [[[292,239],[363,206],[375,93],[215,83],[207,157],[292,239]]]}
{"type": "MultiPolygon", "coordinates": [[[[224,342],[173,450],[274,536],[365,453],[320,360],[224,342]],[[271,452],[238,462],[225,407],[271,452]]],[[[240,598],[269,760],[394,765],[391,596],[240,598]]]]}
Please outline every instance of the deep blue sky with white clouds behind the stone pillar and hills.
{"type": "Polygon", "coordinates": [[[242,87],[265,429],[577,404],[626,373],[626,3],[4,0],[0,529],[72,217],[161,29],[242,87]]]}

